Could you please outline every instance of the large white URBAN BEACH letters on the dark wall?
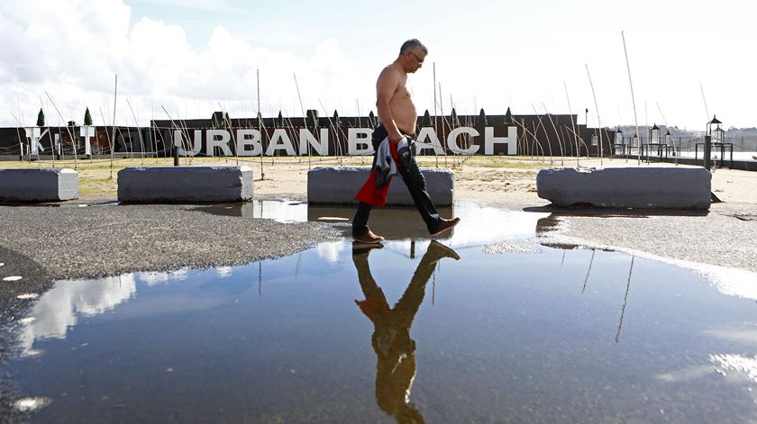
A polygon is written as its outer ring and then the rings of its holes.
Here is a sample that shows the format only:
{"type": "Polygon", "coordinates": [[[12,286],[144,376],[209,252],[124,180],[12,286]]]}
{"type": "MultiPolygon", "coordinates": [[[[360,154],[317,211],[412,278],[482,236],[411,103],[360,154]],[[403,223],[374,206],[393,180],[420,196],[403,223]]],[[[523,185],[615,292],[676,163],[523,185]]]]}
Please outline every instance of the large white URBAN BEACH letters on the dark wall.
{"type": "MultiPolygon", "coordinates": [[[[346,134],[346,152],[348,156],[372,155],[373,146],[370,137],[373,130],[369,128],[348,128],[346,134]]],[[[328,129],[320,129],[315,135],[305,128],[298,132],[276,129],[261,133],[259,130],[175,130],[173,144],[181,156],[196,156],[201,152],[205,156],[274,156],[285,154],[297,156],[314,154],[328,156],[336,154],[330,151],[328,129]],[[203,136],[205,135],[205,138],[203,136]],[[297,137],[294,137],[294,136],[297,137]],[[265,139],[265,140],[264,140],[265,139]],[[295,139],[294,141],[292,139],[295,139]],[[265,146],[265,147],[264,147],[265,146]],[[205,149],[203,149],[205,147],[205,149]]],[[[451,130],[446,140],[439,140],[439,135],[431,127],[421,128],[417,137],[418,151],[431,149],[435,154],[443,155],[446,150],[457,154],[474,155],[483,148],[485,155],[517,154],[517,129],[507,127],[506,137],[495,137],[494,127],[485,127],[483,140],[478,130],[472,127],[458,127],[451,130]],[[506,149],[505,149],[506,148],[506,149]]],[[[339,142],[339,140],[333,140],[339,142]]]]}

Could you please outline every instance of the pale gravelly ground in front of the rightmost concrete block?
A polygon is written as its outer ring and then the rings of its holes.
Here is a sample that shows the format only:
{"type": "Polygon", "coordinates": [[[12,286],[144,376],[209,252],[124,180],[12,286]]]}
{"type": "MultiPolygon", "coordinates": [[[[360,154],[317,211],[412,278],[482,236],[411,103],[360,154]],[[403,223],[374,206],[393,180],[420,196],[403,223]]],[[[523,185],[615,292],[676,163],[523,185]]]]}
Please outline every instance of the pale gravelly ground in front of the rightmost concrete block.
{"type": "Polygon", "coordinates": [[[757,272],[757,204],[714,203],[709,212],[526,208],[561,222],[550,242],[757,272]]]}

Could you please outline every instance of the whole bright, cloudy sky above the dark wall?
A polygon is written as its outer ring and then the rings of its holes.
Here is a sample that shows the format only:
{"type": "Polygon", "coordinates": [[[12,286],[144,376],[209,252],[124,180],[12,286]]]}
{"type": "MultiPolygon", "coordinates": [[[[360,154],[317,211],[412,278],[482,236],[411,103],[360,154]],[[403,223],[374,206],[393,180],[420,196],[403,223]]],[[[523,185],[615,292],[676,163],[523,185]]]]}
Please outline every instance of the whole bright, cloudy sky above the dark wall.
{"type": "Polygon", "coordinates": [[[748,0],[3,0],[0,126],[41,108],[48,125],[87,107],[96,125],[367,115],[379,71],[417,38],[419,114],[754,127],[754,17],[748,0]]]}

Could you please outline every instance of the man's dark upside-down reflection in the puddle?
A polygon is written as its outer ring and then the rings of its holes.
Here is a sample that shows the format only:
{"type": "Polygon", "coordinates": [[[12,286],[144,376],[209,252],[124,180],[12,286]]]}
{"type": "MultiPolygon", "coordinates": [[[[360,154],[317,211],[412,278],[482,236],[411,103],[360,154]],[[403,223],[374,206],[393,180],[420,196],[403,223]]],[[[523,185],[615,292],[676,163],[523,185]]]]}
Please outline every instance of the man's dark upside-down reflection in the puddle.
{"type": "Polygon", "coordinates": [[[433,274],[436,263],[443,257],[459,260],[454,250],[432,241],[413,279],[394,308],[376,280],[370,275],[368,255],[380,245],[359,245],[352,248],[352,262],[358,270],[364,301],[355,301],[374,326],[371,343],[378,356],[376,365],[376,402],[379,408],[400,423],[424,422],[421,413],[409,401],[415,378],[415,340],[410,338],[410,326],[415,313],[424,301],[425,284],[433,274]]]}

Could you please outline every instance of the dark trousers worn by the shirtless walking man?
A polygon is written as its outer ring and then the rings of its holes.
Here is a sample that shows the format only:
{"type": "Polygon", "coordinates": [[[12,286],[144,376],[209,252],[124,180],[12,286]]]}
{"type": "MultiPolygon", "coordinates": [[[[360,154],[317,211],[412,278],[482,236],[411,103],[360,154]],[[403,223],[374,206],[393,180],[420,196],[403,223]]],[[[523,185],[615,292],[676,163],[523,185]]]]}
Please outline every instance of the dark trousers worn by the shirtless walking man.
{"type": "MultiPolygon", "coordinates": [[[[379,150],[379,144],[388,136],[388,131],[384,127],[384,124],[379,123],[379,126],[373,131],[373,137],[370,139],[370,143],[373,144],[374,150],[379,150]]],[[[373,167],[376,166],[376,156],[373,157],[373,167]]],[[[428,232],[436,232],[439,227],[439,222],[442,219],[439,217],[439,212],[436,211],[436,207],[431,201],[431,196],[426,191],[424,175],[421,174],[421,169],[418,167],[418,162],[415,157],[410,163],[410,167],[398,167],[399,175],[402,176],[402,181],[407,186],[407,191],[410,192],[410,197],[415,202],[415,207],[421,214],[421,218],[424,219],[428,232]]],[[[373,206],[368,203],[358,203],[358,211],[355,212],[355,217],[352,219],[352,235],[360,235],[368,229],[368,219],[370,216],[370,210],[373,206]]]]}

